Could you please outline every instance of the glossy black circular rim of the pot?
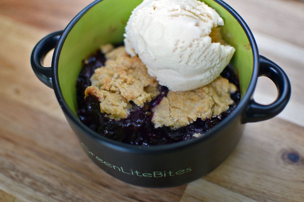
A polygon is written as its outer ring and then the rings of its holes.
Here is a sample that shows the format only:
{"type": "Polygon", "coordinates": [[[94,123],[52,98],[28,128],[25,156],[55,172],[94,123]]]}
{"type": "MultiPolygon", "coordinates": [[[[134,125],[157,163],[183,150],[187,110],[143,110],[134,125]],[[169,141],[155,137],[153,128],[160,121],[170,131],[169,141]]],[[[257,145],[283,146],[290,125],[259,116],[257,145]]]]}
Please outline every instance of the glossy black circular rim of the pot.
{"type": "Polygon", "coordinates": [[[244,108],[247,108],[249,101],[251,100],[251,97],[254,93],[254,88],[257,83],[257,77],[259,72],[259,54],[257,49],[257,44],[255,42],[255,39],[253,37],[252,32],[250,31],[248,25],[243,20],[243,18],[228,4],[223,2],[222,0],[214,0],[216,3],[221,5],[223,8],[225,8],[237,21],[240,23],[242,28],[244,29],[251,45],[251,50],[254,58],[254,66],[253,66],[253,72],[251,81],[249,84],[249,87],[247,88],[247,92],[245,93],[244,97],[240,101],[240,103],[237,105],[237,108],[223,121],[221,121],[219,124],[217,124],[215,127],[210,129],[210,131],[207,131],[203,137],[201,138],[192,138],[187,141],[173,143],[173,144],[166,144],[166,145],[159,145],[159,146],[150,146],[150,147],[140,147],[136,145],[126,144],[126,143],[120,143],[117,141],[114,141],[112,139],[109,139],[107,137],[104,137],[100,134],[98,134],[95,131],[92,131],[90,128],[88,128],[85,124],[83,124],[78,117],[76,117],[73,112],[70,110],[70,108],[67,106],[67,103],[64,101],[60,84],[58,80],[58,62],[59,62],[59,56],[62,49],[62,46],[64,44],[65,39],[67,38],[67,35],[71,31],[71,29],[74,27],[74,25],[78,22],[78,20],[93,6],[95,6],[97,3],[102,2],[102,0],[96,0],[92,2],[90,5],[88,5],[86,8],[84,8],[81,12],[79,12],[72,21],[67,25],[67,27],[64,29],[57,46],[54,50],[53,60],[52,60],[52,80],[53,80],[53,86],[54,91],[57,97],[57,100],[60,104],[60,107],[66,114],[67,118],[69,118],[73,123],[86,135],[90,136],[91,138],[95,138],[95,141],[99,141],[101,144],[107,145],[109,147],[112,147],[113,149],[128,152],[128,153],[140,153],[140,154],[157,154],[159,152],[168,152],[173,151],[177,149],[183,149],[185,147],[190,147],[195,144],[199,144],[202,141],[205,141],[206,139],[212,137],[212,135],[216,135],[216,133],[223,128],[225,128],[226,125],[230,124],[235,118],[238,117],[239,114],[244,112],[244,108]]]}

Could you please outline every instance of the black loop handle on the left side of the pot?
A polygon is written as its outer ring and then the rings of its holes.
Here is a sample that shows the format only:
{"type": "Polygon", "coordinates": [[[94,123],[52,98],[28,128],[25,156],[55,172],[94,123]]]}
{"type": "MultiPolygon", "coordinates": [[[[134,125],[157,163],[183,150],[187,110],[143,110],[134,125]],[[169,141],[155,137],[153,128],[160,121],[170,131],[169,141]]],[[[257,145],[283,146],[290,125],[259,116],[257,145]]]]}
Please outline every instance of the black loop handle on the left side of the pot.
{"type": "Polygon", "coordinates": [[[39,80],[53,88],[51,67],[43,67],[43,60],[47,53],[56,47],[63,31],[53,32],[41,39],[32,51],[31,65],[39,80]]]}

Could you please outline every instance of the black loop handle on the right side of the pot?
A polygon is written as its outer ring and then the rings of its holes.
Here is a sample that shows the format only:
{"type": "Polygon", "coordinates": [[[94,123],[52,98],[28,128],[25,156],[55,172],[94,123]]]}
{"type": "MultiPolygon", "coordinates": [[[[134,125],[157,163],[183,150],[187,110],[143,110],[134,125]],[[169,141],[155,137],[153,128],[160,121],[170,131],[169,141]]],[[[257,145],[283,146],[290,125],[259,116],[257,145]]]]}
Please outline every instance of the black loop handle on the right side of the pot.
{"type": "Polygon", "coordinates": [[[269,105],[258,104],[252,99],[243,116],[243,124],[275,117],[283,111],[290,99],[291,85],[286,73],[277,64],[262,55],[260,55],[260,76],[266,76],[275,83],[278,97],[269,105]]]}

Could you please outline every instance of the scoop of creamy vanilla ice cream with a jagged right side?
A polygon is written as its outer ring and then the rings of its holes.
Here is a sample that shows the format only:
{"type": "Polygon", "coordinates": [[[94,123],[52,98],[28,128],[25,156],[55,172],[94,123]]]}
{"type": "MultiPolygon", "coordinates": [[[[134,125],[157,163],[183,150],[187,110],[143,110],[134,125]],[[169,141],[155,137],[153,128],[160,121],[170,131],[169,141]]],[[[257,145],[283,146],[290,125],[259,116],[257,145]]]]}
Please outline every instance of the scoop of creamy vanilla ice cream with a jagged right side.
{"type": "Polygon", "coordinates": [[[211,42],[211,28],[219,25],[223,18],[198,0],[144,0],[129,18],[124,43],[161,85],[189,91],[215,80],[235,52],[211,42]]]}

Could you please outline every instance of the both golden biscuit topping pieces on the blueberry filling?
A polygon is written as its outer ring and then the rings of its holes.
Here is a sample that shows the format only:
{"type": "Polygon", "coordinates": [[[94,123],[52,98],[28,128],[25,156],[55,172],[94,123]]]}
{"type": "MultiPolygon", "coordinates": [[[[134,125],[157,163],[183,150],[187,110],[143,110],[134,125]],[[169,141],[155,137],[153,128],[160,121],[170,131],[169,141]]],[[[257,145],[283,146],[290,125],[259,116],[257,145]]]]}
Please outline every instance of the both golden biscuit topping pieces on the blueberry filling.
{"type": "MultiPolygon", "coordinates": [[[[124,47],[101,47],[107,61],[91,77],[92,86],[85,90],[85,97],[94,95],[100,110],[110,119],[127,118],[133,105],[143,107],[160,92],[158,83],[151,77],[140,58],[130,57],[124,47]]],[[[230,93],[237,90],[228,79],[219,76],[212,83],[185,92],[169,91],[167,97],[152,109],[152,122],[156,128],[173,129],[193,123],[197,118],[206,120],[218,116],[233,104],[230,93]]]]}

